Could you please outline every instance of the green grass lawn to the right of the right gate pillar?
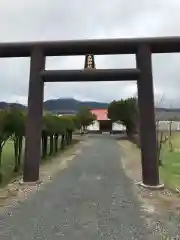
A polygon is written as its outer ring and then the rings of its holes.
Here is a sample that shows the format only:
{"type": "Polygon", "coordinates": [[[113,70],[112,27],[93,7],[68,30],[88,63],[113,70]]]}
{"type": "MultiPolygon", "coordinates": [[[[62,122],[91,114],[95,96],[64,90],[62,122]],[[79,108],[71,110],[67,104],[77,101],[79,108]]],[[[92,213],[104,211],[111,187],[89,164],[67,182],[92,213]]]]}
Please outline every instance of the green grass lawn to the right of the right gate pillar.
{"type": "Polygon", "coordinates": [[[180,132],[172,134],[173,152],[168,149],[168,141],[163,144],[160,167],[160,177],[166,186],[180,189],[180,132]]]}

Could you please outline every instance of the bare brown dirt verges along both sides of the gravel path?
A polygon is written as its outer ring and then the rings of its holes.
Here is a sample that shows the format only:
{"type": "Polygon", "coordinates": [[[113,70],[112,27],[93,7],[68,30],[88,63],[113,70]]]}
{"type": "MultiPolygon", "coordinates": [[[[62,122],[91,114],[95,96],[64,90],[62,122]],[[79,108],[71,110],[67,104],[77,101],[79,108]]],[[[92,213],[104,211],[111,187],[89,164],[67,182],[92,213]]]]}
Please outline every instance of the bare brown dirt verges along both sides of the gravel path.
{"type": "MultiPolygon", "coordinates": [[[[76,155],[81,155],[81,149],[91,144],[86,137],[80,137],[79,143],[69,148],[64,153],[55,157],[53,161],[40,166],[39,184],[21,184],[21,178],[0,191],[0,212],[6,211],[12,215],[11,207],[31,197],[37,191],[43,189],[45,184],[51,182],[56,175],[66,169],[76,155]]],[[[180,196],[168,189],[149,190],[140,187],[137,183],[141,181],[141,161],[139,149],[127,140],[120,140],[118,144],[121,149],[121,163],[126,175],[135,183],[134,193],[142,202],[143,211],[147,212],[147,224],[153,226],[155,232],[163,234],[163,238],[153,239],[180,239],[180,196]],[[168,238],[164,238],[164,236],[168,238]],[[169,236],[172,236],[169,238],[169,236]],[[174,236],[176,238],[174,238],[174,236]]]]}

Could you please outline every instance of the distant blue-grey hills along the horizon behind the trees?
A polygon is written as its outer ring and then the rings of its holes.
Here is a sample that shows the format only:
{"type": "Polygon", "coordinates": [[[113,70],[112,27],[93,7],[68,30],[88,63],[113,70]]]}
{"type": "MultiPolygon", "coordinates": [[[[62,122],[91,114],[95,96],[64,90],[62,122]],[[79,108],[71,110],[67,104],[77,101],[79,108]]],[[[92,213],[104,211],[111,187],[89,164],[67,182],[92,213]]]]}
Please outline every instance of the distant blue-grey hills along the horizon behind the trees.
{"type": "MultiPolygon", "coordinates": [[[[95,101],[79,101],[73,98],[50,99],[44,102],[44,110],[54,113],[76,113],[83,106],[88,108],[108,108],[109,103],[95,101]]],[[[27,107],[19,103],[0,102],[0,109],[5,109],[14,105],[20,109],[27,107]]],[[[180,120],[180,108],[156,108],[156,117],[159,120],[169,120],[176,118],[180,120]]]]}

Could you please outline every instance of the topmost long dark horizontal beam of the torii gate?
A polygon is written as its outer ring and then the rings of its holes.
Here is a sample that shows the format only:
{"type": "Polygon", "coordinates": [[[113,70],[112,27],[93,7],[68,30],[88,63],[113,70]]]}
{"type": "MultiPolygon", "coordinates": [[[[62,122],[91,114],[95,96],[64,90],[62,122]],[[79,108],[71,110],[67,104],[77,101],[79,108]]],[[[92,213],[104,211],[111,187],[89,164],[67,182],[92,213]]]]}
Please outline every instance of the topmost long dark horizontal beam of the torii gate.
{"type": "Polygon", "coordinates": [[[134,54],[141,44],[149,45],[152,53],[180,52],[180,37],[117,38],[0,43],[0,57],[29,57],[34,47],[40,47],[46,56],[134,54]]]}

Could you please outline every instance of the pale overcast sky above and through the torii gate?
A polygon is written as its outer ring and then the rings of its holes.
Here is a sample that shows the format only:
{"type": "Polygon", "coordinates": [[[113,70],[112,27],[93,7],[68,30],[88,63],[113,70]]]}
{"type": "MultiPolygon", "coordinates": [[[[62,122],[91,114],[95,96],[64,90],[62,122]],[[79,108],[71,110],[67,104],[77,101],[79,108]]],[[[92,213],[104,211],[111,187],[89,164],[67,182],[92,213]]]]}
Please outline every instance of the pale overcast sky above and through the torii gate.
{"type": "MultiPolygon", "coordinates": [[[[179,0],[1,0],[0,41],[180,36],[179,0]]],[[[135,67],[134,56],[96,56],[97,68],[135,67]]],[[[80,69],[84,57],[47,58],[47,69],[80,69]]],[[[180,54],[153,55],[156,101],[180,107],[180,54]]],[[[27,102],[29,59],[0,59],[0,100],[27,102]]],[[[111,101],[135,82],[48,83],[45,100],[111,101]]]]}

